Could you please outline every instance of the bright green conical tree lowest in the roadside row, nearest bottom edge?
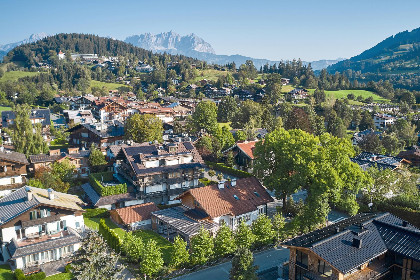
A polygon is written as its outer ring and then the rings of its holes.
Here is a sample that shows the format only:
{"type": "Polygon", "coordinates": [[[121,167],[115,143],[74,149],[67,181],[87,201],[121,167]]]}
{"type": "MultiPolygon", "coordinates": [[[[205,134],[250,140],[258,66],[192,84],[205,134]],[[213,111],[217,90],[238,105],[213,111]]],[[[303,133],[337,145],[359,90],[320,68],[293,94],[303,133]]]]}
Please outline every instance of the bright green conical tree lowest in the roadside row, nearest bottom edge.
{"type": "Polygon", "coordinates": [[[157,247],[155,240],[147,242],[142,259],[140,261],[140,272],[145,276],[153,277],[163,268],[162,252],[157,247]]]}

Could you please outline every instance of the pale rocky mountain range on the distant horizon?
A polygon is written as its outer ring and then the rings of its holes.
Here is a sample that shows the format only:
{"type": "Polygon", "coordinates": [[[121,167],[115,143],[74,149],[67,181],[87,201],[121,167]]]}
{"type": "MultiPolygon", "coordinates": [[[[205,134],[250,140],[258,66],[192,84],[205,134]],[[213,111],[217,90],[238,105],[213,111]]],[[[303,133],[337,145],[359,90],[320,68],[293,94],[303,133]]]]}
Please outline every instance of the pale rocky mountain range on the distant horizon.
{"type": "MultiPolygon", "coordinates": [[[[265,64],[273,65],[280,61],[272,61],[268,59],[253,58],[243,55],[220,55],[216,54],[210,43],[198,37],[195,34],[181,36],[176,32],[163,32],[160,34],[145,33],[141,35],[133,35],[127,37],[124,42],[133,44],[136,47],[144,48],[146,50],[169,53],[169,54],[182,54],[185,56],[193,57],[199,60],[204,60],[207,63],[225,65],[235,62],[237,66],[244,64],[247,60],[252,60],[255,67],[259,69],[265,64]]],[[[314,70],[321,70],[338,61],[337,60],[318,60],[311,62],[303,62],[304,64],[311,63],[314,70]]]]}

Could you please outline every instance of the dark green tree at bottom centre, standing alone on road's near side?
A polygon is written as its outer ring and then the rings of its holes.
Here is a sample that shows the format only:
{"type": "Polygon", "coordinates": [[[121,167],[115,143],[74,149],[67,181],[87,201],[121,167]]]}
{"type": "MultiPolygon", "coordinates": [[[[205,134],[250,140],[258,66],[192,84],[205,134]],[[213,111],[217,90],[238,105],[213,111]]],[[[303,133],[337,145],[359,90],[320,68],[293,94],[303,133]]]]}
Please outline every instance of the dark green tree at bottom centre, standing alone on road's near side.
{"type": "Polygon", "coordinates": [[[230,280],[257,280],[257,266],[254,265],[254,257],[248,248],[238,248],[232,259],[230,280]]]}

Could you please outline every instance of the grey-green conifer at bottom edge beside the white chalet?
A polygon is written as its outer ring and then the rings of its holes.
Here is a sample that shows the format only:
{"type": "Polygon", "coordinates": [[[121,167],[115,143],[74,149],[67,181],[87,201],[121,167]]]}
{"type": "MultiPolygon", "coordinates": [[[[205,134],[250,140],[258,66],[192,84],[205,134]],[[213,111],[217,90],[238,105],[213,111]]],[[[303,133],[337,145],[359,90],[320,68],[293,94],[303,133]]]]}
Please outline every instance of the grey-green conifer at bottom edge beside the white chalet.
{"type": "Polygon", "coordinates": [[[90,231],[74,256],[72,273],[83,280],[120,279],[124,266],[118,264],[118,259],[102,237],[90,231]]]}

